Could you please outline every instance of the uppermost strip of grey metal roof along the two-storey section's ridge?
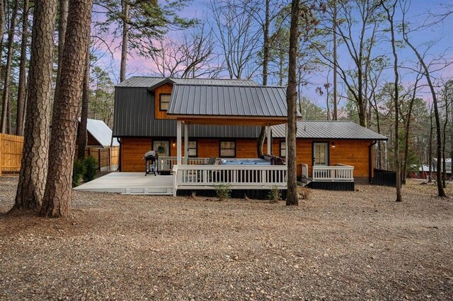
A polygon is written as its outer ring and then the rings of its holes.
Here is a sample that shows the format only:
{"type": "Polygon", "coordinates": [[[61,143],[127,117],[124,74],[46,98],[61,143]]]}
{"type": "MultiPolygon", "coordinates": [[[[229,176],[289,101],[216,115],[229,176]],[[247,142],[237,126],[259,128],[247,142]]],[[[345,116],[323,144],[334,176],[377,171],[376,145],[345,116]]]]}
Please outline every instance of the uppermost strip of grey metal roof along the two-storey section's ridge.
{"type": "Polygon", "coordinates": [[[126,81],[117,84],[117,87],[130,88],[151,88],[166,82],[194,84],[194,85],[257,85],[251,79],[229,79],[229,78],[166,78],[151,76],[132,76],[126,81]]]}

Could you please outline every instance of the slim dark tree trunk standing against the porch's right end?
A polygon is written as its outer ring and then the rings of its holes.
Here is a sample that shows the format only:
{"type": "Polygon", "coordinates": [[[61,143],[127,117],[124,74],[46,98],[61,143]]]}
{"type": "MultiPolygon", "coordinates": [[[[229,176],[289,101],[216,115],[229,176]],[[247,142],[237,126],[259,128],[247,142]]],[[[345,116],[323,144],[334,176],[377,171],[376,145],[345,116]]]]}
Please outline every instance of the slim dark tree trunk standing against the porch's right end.
{"type": "Polygon", "coordinates": [[[297,87],[296,87],[296,64],[297,45],[299,44],[299,0],[291,3],[291,25],[289,27],[289,70],[287,87],[288,107],[288,138],[287,138],[287,206],[299,206],[299,194],[297,192],[297,163],[296,163],[296,131],[297,131],[297,87]]]}

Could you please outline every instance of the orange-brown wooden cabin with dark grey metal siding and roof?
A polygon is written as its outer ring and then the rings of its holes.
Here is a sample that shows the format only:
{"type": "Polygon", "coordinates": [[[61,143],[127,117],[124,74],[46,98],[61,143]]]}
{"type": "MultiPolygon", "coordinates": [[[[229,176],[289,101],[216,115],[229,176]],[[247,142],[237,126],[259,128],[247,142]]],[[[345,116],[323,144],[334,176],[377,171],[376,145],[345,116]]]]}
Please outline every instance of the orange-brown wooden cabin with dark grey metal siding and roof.
{"type": "MultiPolygon", "coordinates": [[[[282,93],[284,88],[258,86],[251,80],[132,77],[115,87],[113,136],[120,141],[120,170],[143,172],[142,157],[150,150],[159,150],[159,168],[166,170],[177,165],[178,148],[186,164],[206,163],[213,157],[256,158],[260,126],[251,121],[265,114],[283,118],[286,104],[278,114],[275,111],[279,108],[272,107],[285,98],[282,93]],[[240,100],[224,105],[238,95],[240,100]],[[272,112],[260,112],[269,106],[272,112]],[[225,111],[222,116],[215,113],[218,107],[225,111]],[[170,108],[173,114],[168,114],[170,108]],[[202,122],[192,122],[190,118],[195,117],[189,115],[194,111],[197,117],[203,115],[202,122]],[[249,114],[248,118],[231,121],[238,111],[249,114]],[[179,146],[180,120],[185,124],[181,131],[185,134],[187,130],[188,138],[180,140],[179,146]]],[[[285,122],[278,119],[272,123],[273,119],[267,118],[268,138],[263,150],[285,158],[285,122]]],[[[354,182],[370,182],[373,146],[378,140],[386,137],[353,122],[299,121],[297,174],[318,182],[312,184],[314,188],[328,188],[322,182],[352,182],[352,187],[354,182]]]]}

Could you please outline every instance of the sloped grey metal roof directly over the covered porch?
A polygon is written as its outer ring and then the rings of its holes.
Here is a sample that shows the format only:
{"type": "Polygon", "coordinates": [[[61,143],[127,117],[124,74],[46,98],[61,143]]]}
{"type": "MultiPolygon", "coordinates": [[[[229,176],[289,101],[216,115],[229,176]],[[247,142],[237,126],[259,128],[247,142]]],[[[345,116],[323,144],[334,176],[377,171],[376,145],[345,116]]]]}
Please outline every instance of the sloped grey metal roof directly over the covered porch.
{"type": "Polygon", "coordinates": [[[286,117],[286,89],[263,85],[175,84],[167,114],[286,117]]]}

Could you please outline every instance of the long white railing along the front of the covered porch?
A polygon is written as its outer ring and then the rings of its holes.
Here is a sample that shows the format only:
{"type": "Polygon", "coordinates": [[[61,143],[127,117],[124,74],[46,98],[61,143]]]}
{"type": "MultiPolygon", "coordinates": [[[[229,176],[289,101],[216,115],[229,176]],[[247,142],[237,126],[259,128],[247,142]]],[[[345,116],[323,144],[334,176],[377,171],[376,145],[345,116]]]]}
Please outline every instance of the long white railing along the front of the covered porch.
{"type": "Polygon", "coordinates": [[[173,194],[178,189],[286,189],[286,165],[173,165],[173,194]]]}

